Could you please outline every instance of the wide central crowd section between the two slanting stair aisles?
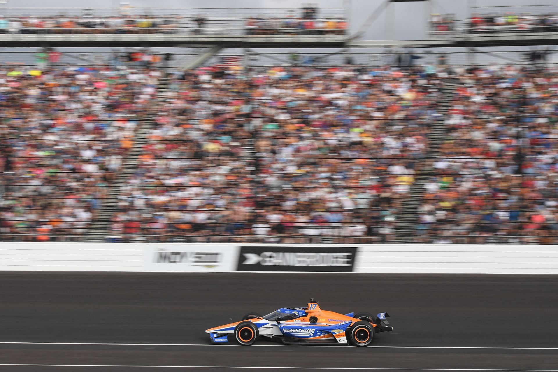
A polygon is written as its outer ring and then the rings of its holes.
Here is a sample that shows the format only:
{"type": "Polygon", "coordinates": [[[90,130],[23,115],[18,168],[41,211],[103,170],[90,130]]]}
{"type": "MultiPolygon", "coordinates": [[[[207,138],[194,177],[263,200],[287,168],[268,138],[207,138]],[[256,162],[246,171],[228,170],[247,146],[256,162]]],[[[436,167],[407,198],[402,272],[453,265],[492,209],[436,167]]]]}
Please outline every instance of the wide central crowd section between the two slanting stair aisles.
{"type": "Polygon", "coordinates": [[[112,234],[390,241],[428,151],[439,86],[436,74],[379,67],[176,77],[112,234]]]}

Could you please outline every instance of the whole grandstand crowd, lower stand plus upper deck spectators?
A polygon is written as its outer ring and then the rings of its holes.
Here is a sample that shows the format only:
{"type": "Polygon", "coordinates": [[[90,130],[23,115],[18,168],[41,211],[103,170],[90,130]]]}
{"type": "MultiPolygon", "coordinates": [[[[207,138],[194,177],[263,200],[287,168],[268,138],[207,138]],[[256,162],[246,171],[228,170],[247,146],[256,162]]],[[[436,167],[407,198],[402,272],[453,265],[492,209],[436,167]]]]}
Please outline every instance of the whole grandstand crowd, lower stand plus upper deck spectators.
{"type": "MultiPolygon", "coordinates": [[[[354,36],[335,9],[257,11],[14,14],[0,29],[45,42],[230,32],[286,48],[354,36]]],[[[541,17],[544,30],[521,32],[551,44],[555,17],[541,17]]],[[[480,32],[431,21],[434,33],[480,32]]],[[[502,54],[489,66],[401,49],[268,65],[215,45],[189,69],[156,50],[71,66],[47,48],[31,65],[4,64],[0,239],[556,243],[558,98],[545,58],[521,51],[522,64],[502,54]]]]}

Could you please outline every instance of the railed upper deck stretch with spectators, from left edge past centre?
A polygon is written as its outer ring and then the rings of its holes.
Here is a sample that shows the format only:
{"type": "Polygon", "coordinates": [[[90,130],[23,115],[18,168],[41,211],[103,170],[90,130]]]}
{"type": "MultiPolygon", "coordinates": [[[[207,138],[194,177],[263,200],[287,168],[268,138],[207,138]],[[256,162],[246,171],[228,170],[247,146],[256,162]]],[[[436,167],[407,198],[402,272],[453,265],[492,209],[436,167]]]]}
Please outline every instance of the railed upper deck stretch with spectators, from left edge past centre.
{"type": "Polygon", "coordinates": [[[344,35],[344,9],[0,8],[0,32],[13,35],[344,35]]]}

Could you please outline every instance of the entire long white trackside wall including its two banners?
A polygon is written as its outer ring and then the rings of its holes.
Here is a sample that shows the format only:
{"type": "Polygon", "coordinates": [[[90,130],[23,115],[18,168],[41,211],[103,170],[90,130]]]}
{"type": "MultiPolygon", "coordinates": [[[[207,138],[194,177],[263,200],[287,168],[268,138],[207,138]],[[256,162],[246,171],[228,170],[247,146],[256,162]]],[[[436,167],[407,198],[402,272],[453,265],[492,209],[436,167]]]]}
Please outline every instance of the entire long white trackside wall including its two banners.
{"type": "Polygon", "coordinates": [[[558,245],[0,242],[0,270],[558,274],[558,245]]]}

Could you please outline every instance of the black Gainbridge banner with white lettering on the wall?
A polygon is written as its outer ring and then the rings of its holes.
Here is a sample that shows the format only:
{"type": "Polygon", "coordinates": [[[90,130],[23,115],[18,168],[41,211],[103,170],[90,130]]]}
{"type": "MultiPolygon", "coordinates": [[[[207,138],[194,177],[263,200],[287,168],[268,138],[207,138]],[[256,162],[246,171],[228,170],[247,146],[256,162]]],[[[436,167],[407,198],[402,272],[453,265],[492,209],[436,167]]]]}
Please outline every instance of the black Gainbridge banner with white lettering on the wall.
{"type": "Polygon", "coordinates": [[[352,272],[355,247],[240,247],[238,271],[352,272]]]}

